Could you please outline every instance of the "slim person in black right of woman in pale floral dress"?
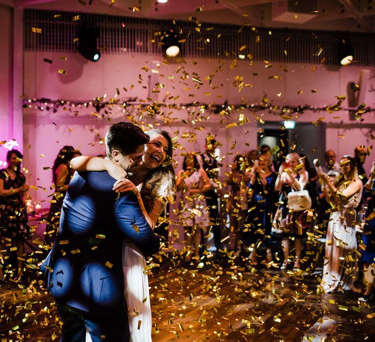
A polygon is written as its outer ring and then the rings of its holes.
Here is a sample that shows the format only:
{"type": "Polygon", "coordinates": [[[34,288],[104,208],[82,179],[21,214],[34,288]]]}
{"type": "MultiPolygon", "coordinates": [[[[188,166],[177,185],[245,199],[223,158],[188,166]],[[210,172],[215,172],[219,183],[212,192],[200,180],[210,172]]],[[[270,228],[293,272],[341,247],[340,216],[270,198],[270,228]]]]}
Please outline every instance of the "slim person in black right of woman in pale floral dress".
{"type": "MultiPolygon", "coordinates": [[[[219,194],[220,188],[218,187],[218,174],[219,166],[215,158],[215,150],[218,143],[211,136],[206,138],[205,152],[201,154],[203,169],[206,171],[211,183],[211,189],[208,190],[206,195],[206,204],[209,210],[209,219],[211,222],[211,229],[213,233],[213,243],[216,247],[216,253],[221,249],[221,236],[220,236],[220,214],[219,214],[219,194]]],[[[204,241],[202,241],[203,243],[204,241]]]]}

